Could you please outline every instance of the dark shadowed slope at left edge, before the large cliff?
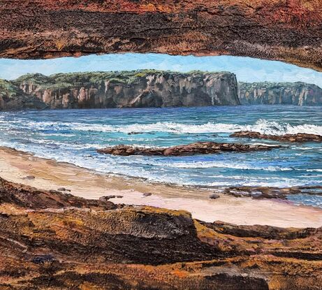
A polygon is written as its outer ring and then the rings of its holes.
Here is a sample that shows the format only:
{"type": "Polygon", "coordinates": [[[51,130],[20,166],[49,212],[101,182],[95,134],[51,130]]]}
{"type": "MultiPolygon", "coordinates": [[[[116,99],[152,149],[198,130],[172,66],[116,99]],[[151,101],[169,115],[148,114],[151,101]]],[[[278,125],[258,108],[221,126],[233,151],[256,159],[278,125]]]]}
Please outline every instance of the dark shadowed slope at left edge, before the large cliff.
{"type": "Polygon", "coordinates": [[[40,110],[47,108],[43,101],[25,94],[11,82],[0,80],[0,110],[40,110]]]}

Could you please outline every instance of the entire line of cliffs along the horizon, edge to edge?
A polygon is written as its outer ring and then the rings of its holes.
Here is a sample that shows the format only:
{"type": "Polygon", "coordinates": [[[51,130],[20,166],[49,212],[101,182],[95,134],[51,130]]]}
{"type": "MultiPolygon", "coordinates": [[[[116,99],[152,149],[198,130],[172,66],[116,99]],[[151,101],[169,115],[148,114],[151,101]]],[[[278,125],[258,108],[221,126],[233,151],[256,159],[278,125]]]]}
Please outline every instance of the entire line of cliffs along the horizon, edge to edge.
{"type": "Polygon", "coordinates": [[[305,82],[239,82],[233,73],[122,71],[41,73],[0,80],[0,110],[235,105],[321,106],[305,82]]]}

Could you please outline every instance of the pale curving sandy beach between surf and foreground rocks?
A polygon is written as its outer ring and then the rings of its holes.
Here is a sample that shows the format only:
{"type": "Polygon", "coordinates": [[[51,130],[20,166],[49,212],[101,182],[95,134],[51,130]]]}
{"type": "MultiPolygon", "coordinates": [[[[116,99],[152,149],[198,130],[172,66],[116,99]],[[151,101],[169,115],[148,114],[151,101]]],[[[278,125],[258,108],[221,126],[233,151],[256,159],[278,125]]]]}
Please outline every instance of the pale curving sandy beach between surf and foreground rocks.
{"type": "Polygon", "coordinates": [[[322,226],[322,210],[319,208],[224,195],[210,200],[211,191],[99,174],[6,147],[0,147],[0,176],[38,189],[66,187],[71,189],[72,194],[85,198],[122,195],[123,198],[112,198],[110,201],[188,210],[194,218],[206,222],[220,220],[233,224],[268,224],[282,227],[322,226]],[[36,178],[24,179],[27,175],[34,175],[36,178]],[[142,195],[148,192],[152,196],[142,195]]]}

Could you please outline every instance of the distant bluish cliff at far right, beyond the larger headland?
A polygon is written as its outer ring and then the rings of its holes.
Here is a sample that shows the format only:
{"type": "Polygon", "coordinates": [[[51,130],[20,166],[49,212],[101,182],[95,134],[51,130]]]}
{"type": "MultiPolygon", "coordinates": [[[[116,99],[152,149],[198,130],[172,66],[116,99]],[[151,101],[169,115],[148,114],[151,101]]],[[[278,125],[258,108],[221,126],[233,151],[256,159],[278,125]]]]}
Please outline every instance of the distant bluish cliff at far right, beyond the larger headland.
{"type": "Polygon", "coordinates": [[[322,89],[305,82],[240,82],[238,96],[242,105],[321,106],[322,104],[322,89]]]}

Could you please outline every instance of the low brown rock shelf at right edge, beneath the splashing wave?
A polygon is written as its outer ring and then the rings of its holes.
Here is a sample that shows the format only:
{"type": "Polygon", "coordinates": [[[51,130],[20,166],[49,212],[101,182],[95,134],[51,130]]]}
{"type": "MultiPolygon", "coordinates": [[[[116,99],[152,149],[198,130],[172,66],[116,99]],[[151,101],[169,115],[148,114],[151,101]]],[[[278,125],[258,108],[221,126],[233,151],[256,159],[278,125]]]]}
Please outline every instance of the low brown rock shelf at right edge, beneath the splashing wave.
{"type": "Polygon", "coordinates": [[[307,133],[285,134],[285,135],[267,135],[254,131],[239,131],[230,135],[230,137],[268,139],[285,142],[322,142],[322,136],[307,133]]]}

